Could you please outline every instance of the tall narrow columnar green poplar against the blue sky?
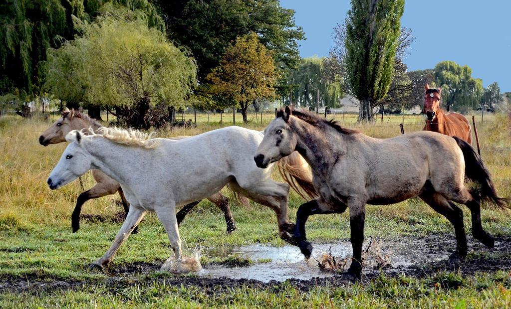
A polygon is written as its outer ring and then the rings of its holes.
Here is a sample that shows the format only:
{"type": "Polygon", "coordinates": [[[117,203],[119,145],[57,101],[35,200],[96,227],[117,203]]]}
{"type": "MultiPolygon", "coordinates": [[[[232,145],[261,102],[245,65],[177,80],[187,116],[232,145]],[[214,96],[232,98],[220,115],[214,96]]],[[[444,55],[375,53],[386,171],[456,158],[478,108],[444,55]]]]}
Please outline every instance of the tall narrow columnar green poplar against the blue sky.
{"type": "Polygon", "coordinates": [[[373,107],[394,77],[404,0],[352,0],[340,42],[346,82],[360,101],[359,121],[374,121],[373,107]]]}

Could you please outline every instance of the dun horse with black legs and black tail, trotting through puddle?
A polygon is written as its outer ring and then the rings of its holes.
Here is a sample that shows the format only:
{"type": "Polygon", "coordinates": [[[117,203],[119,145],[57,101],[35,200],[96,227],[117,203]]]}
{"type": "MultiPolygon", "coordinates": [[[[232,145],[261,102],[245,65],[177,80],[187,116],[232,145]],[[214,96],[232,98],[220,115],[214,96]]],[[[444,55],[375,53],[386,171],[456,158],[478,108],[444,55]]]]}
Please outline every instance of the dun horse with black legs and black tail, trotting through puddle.
{"type": "Polygon", "coordinates": [[[455,264],[467,255],[467,238],[463,212],[453,202],[467,205],[474,238],[490,248],[494,247],[494,237],[482,228],[480,202],[489,200],[509,207],[509,200],[498,197],[481,158],[456,136],[419,131],[373,138],[316,114],[286,107],[266,128],[254,160],[258,167],[266,168],[293,151],[311,166],[320,196],[298,208],[291,243],[309,258],[312,246],[306,239],[307,218],[342,213],[348,208],[353,246],[348,271],[357,277],[362,270],[365,204],[388,205],[420,197],[454,226],[456,251],[451,261],[455,264]],[[465,176],[480,186],[468,189],[465,176]]]}

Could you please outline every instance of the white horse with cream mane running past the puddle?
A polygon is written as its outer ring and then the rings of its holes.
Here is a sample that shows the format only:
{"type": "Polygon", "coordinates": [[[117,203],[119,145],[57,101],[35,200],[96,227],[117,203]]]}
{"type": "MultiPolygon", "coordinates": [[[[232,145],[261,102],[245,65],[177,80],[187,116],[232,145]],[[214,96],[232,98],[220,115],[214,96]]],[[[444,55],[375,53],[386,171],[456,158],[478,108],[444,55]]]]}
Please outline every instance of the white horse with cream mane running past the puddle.
{"type": "MultiPolygon", "coordinates": [[[[156,212],[167,231],[174,257],[161,267],[176,273],[190,271],[181,255],[176,206],[207,198],[226,184],[233,191],[272,208],[282,239],[289,241],[294,224],[288,220],[289,185],[270,177],[271,168],[253,161],[263,133],[227,127],[181,140],[149,138],[145,133],[117,128],[69,132],[71,141],[48,178],[57,189],[90,169],[98,169],[121,184],[130,204],[128,216],[110,249],[89,268],[103,268],[142,220],[156,212]]],[[[270,164],[271,165],[271,164],[270,164]]]]}

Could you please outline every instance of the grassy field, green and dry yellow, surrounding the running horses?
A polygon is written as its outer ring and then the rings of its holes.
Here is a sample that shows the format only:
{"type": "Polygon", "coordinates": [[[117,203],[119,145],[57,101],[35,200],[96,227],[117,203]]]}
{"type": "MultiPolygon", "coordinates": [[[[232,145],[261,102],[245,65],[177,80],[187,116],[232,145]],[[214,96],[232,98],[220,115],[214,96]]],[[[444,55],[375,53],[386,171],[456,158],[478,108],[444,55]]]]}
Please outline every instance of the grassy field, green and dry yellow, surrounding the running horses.
{"type": "MultiPolygon", "coordinates": [[[[252,115],[253,116],[253,115],[252,115]]],[[[185,119],[193,114],[185,114],[185,119]]],[[[258,116],[259,117],[259,116],[258,116]]],[[[272,119],[263,114],[263,124],[249,128],[263,130],[272,119]]],[[[241,117],[237,115],[237,120],[241,117]]],[[[249,117],[250,118],[250,117],[249,117]]],[[[358,127],[356,115],[336,115],[348,127],[356,127],[374,137],[421,130],[424,120],[419,115],[385,116],[383,123],[358,127]]],[[[480,120],[480,116],[477,116],[480,120]]],[[[110,119],[111,120],[111,119],[110,119]]],[[[197,114],[197,127],[177,128],[158,132],[159,136],[195,135],[220,127],[219,114],[197,114]]],[[[259,122],[261,118],[258,118],[259,122]]],[[[112,288],[112,274],[88,272],[89,263],[100,257],[110,246],[120,224],[112,219],[121,210],[118,196],[89,201],[83,213],[101,215],[106,222],[83,221],[77,233],[71,232],[71,212],[82,192],[78,181],[57,191],[50,191],[45,180],[57,163],[66,145],[42,147],[39,134],[51,122],[18,116],[0,117],[0,307],[38,306],[270,306],[270,307],[361,307],[361,306],[421,306],[421,307],[509,307],[511,279],[509,272],[437,273],[427,277],[388,277],[348,284],[343,287],[321,285],[311,290],[297,290],[293,284],[268,286],[223,287],[204,289],[201,286],[181,286],[166,283],[162,278],[187,281],[194,275],[174,275],[151,272],[137,277],[135,283],[119,284],[112,288]],[[79,288],[29,289],[20,291],[2,282],[23,281],[85,281],[79,288]],[[448,283],[445,283],[448,282],[448,283]],[[2,291],[3,290],[3,291],[2,291]],[[212,292],[213,290],[213,292],[212,292]]],[[[232,115],[223,116],[222,125],[231,125],[232,115]]],[[[242,125],[237,123],[237,125],[242,125]]],[[[245,126],[245,125],[243,125],[245,126]]],[[[504,115],[485,115],[477,123],[484,162],[494,176],[497,190],[511,196],[511,139],[508,118],[504,115]]],[[[439,158],[439,160],[442,158],[439,158]]],[[[94,185],[87,174],[85,188],[94,185]]],[[[275,179],[278,176],[275,174],[275,179]]],[[[224,189],[224,193],[232,194],[224,189]]],[[[290,197],[290,217],[294,220],[297,207],[304,201],[296,194],[290,197]]],[[[267,243],[282,246],[278,238],[274,214],[268,208],[251,203],[241,206],[232,202],[237,230],[226,235],[225,221],[218,208],[203,201],[180,227],[185,253],[197,245],[206,248],[230,248],[238,245],[267,243]]],[[[511,235],[510,212],[494,206],[482,211],[483,226],[499,236],[511,235]]],[[[464,209],[467,232],[470,232],[470,213],[464,209]]],[[[332,242],[349,238],[347,213],[315,216],[307,224],[312,242],[332,242]]],[[[367,206],[366,236],[399,240],[402,236],[421,236],[430,233],[453,234],[452,226],[419,200],[409,200],[391,206],[367,206]]],[[[454,235],[452,235],[454,237],[454,235]]],[[[469,238],[469,241],[471,239],[469,238]]],[[[130,265],[137,262],[162,263],[170,255],[168,239],[154,215],[146,216],[140,232],[131,235],[121,247],[113,264],[130,265]]],[[[509,252],[511,254],[511,252],[509,252]]],[[[477,254],[474,254],[477,255],[477,254]]],[[[229,258],[226,256],[225,258],[229,258]]],[[[203,257],[211,263],[214,257],[203,257]]],[[[218,262],[218,261],[217,261],[218,262]]]]}

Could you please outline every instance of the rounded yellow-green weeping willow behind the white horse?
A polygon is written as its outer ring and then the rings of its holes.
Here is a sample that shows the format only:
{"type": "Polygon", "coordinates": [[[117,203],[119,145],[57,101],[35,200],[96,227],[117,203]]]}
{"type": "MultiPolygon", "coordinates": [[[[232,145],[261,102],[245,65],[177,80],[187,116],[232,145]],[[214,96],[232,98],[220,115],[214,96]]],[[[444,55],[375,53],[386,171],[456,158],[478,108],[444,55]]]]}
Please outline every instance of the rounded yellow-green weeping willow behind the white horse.
{"type": "Polygon", "coordinates": [[[194,59],[144,20],[102,17],[49,59],[52,92],[113,106],[135,128],[152,125],[149,112],[156,104],[184,106],[196,85],[194,59]]]}

